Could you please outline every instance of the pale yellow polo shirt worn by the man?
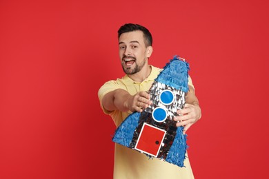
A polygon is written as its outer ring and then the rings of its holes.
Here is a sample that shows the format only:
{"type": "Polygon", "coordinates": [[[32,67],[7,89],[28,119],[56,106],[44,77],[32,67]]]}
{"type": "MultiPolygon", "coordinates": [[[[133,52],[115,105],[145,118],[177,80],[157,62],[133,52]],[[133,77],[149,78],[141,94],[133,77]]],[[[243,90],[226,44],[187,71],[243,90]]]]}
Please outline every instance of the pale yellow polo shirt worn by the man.
{"type": "MultiPolygon", "coordinates": [[[[101,108],[105,114],[109,114],[114,120],[115,125],[118,127],[121,125],[122,121],[129,115],[131,112],[120,112],[115,110],[109,112],[103,108],[102,98],[108,92],[112,92],[114,89],[125,89],[131,95],[136,94],[140,91],[148,91],[152,83],[157,78],[161,69],[151,66],[152,70],[150,76],[144,81],[135,82],[132,81],[127,75],[123,78],[117,78],[116,81],[106,82],[98,92],[101,108]]],[[[192,85],[191,78],[189,77],[189,85],[192,85]]],[[[139,151],[134,149],[129,149],[123,145],[115,143],[114,150],[114,178],[115,179],[140,179],[140,178],[194,178],[192,169],[190,167],[190,162],[186,154],[186,160],[184,161],[184,166],[178,167],[177,165],[170,164],[168,162],[163,162],[162,160],[151,158],[149,159],[145,154],[141,154],[139,151]]]]}

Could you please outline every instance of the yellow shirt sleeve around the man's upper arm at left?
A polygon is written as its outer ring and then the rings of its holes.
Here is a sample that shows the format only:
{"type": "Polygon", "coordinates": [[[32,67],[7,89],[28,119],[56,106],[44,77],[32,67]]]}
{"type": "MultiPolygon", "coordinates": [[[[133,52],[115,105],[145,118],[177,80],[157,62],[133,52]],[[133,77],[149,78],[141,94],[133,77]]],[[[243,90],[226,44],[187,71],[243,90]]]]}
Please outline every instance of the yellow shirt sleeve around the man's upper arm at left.
{"type": "Polygon", "coordinates": [[[112,92],[114,91],[115,89],[119,89],[119,85],[117,84],[116,81],[108,81],[106,82],[105,84],[103,84],[99,91],[98,91],[98,98],[99,98],[99,102],[100,102],[100,105],[101,105],[101,108],[103,109],[103,112],[105,114],[111,114],[112,112],[106,110],[104,107],[103,107],[103,104],[102,104],[102,100],[103,100],[103,96],[105,96],[106,94],[108,94],[109,92],[112,92]]]}

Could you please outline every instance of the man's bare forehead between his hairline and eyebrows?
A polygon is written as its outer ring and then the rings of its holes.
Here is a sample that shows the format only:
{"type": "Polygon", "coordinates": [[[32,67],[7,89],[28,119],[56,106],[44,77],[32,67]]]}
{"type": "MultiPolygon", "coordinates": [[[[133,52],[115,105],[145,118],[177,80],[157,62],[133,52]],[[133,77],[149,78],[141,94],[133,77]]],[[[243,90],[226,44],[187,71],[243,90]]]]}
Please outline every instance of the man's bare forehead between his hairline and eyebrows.
{"type": "Polygon", "coordinates": [[[119,43],[131,43],[132,41],[138,41],[140,44],[144,44],[143,32],[136,30],[125,32],[119,36],[119,43]]]}

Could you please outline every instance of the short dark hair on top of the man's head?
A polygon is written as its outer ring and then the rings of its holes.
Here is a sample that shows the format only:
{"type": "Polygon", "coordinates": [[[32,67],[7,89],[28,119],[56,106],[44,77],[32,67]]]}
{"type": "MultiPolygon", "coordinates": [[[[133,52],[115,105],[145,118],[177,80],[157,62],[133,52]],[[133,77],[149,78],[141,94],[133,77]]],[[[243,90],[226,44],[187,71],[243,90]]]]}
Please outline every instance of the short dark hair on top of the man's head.
{"type": "Polygon", "coordinates": [[[118,30],[118,39],[119,39],[119,36],[121,36],[121,34],[126,33],[126,32],[136,31],[136,30],[141,30],[143,32],[146,47],[152,46],[152,36],[150,34],[150,31],[147,28],[139,24],[126,23],[122,25],[121,28],[119,28],[118,30]]]}

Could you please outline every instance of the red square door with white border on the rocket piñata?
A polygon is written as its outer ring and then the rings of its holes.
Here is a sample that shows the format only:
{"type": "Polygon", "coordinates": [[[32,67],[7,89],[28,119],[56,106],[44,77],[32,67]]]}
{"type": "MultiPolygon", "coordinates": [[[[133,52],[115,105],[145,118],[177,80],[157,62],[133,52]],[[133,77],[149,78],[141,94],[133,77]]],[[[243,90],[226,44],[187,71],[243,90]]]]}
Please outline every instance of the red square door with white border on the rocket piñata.
{"type": "Polygon", "coordinates": [[[143,123],[135,149],[157,157],[164,136],[166,136],[165,130],[143,123]]]}

